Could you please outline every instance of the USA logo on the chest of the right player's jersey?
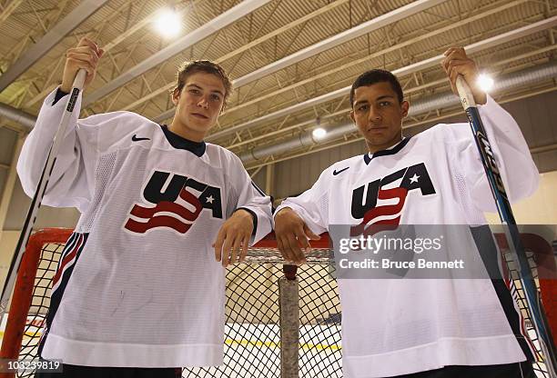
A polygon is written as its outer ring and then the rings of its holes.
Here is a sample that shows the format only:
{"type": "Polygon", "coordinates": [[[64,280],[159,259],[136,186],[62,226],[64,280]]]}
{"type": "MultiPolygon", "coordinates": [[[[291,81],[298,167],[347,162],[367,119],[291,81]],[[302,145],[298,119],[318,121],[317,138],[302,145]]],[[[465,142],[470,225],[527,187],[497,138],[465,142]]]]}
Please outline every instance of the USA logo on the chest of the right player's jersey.
{"type": "Polygon", "coordinates": [[[407,195],[414,190],[420,190],[421,195],[435,194],[430,174],[423,163],[402,168],[354,189],[351,212],[354,218],[361,219],[361,223],[350,229],[350,235],[371,235],[395,229],[400,224],[407,195]],[[400,185],[394,186],[393,183],[399,180],[400,185]]]}

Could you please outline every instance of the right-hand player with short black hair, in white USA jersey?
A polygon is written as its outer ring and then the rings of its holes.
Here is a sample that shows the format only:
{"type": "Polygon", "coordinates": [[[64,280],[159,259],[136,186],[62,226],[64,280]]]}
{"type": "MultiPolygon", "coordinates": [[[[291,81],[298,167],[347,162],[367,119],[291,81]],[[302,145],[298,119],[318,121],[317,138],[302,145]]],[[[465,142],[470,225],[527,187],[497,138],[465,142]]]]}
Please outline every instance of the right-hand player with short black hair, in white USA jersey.
{"type": "MultiPolygon", "coordinates": [[[[442,66],[455,94],[462,75],[481,104],[511,201],[531,195],[539,174],[518,124],[475,85],[478,70],[462,48],[449,49],[442,66]]],[[[403,137],[410,104],[396,77],[381,70],[356,79],[350,104],[368,152],[332,164],[278,207],[285,259],[303,263],[309,239],[334,224],[486,224],[483,212],[495,205],[468,124],[403,137]]],[[[466,229],[468,243],[459,247],[480,259],[466,229]]],[[[339,279],[339,293],[345,378],[534,377],[528,336],[501,279],[339,279]]]]}

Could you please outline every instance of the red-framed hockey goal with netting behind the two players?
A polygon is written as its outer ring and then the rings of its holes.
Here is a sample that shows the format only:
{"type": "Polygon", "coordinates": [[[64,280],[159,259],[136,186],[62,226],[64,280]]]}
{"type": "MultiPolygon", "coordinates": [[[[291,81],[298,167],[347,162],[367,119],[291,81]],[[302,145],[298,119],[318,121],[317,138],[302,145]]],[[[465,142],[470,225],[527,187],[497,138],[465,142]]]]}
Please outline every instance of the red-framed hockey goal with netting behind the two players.
{"type": "MultiPolygon", "coordinates": [[[[38,359],[37,344],[48,310],[50,282],[71,232],[69,229],[45,229],[30,239],[15,284],[0,353],[2,358],[38,359]]],[[[504,259],[508,260],[504,237],[497,239],[504,259]]],[[[341,312],[334,261],[328,238],[312,245],[314,249],[308,256],[308,264],[299,267],[297,272],[291,267],[283,269],[288,266],[283,266],[272,236],[250,248],[245,263],[228,268],[224,364],[187,368],[183,371],[184,377],[342,377],[341,312]],[[284,272],[289,273],[289,280],[284,272]],[[288,344],[290,349],[293,346],[294,354],[289,351],[288,344]]],[[[549,254],[553,258],[551,247],[549,254]]],[[[529,251],[529,255],[536,274],[534,256],[538,254],[529,251]]],[[[545,250],[542,255],[548,256],[548,252],[545,250]]],[[[513,264],[508,263],[509,274],[516,282],[517,272],[513,264]]],[[[542,284],[542,300],[546,309],[549,308],[550,322],[555,322],[557,288],[550,281],[536,279],[536,283],[542,284]]],[[[515,288],[513,295],[539,351],[539,362],[534,366],[536,374],[547,377],[520,283],[516,283],[515,288]]],[[[556,328],[553,330],[553,333],[557,332],[556,328]]],[[[30,377],[33,374],[25,371],[15,376],[30,377]]]]}

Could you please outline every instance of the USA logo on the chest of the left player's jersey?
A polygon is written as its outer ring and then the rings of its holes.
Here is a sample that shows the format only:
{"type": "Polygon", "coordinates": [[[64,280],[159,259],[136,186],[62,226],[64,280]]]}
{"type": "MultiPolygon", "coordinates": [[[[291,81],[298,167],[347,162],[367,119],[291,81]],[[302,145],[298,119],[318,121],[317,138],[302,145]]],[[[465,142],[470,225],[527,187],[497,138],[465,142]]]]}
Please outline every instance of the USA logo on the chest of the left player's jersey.
{"type": "Polygon", "coordinates": [[[185,234],[203,209],[222,219],[220,188],[181,174],[154,171],[142,196],[144,203],[134,204],[124,225],[133,233],[168,227],[185,234]]]}

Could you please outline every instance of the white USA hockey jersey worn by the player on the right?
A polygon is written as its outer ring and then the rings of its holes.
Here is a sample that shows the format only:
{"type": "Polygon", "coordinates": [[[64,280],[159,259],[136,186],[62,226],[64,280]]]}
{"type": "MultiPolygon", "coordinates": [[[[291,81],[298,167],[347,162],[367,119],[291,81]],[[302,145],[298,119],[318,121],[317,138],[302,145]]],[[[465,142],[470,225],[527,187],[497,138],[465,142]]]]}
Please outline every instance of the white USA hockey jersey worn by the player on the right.
{"type": "MultiPolygon", "coordinates": [[[[480,113],[511,201],[532,194],[539,174],[520,128],[491,98],[480,113]]],[[[390,149],[335,163],[277,212],[286,206],[316,234],[333,224],[362,224],[364,215],[373,223],[385,215],[374,210],[388,206],[400,224],[486,224],[483,212],[496,211],[468,124],[438,124],[390,149]]],[[[468,247],[479,254],[472,240],[468,247]]],[[[502,282],[339,279],[339,293],[345,378],[530,357],[502,282]]]]}

